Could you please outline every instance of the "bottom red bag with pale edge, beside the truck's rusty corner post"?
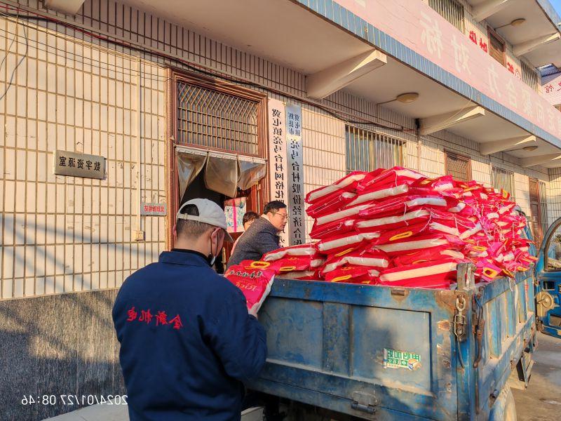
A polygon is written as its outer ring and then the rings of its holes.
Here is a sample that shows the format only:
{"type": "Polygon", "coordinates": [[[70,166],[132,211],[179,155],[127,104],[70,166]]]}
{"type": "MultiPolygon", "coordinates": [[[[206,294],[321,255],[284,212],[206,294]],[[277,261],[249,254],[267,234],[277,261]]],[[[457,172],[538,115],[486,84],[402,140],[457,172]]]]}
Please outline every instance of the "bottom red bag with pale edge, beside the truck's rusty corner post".
{"type": "Polygon", "coordinates": [[[458,260],[446,259],[392,267],[380,275],[380,285],[411,288],[450,288],[456,280],[458,260]]]}

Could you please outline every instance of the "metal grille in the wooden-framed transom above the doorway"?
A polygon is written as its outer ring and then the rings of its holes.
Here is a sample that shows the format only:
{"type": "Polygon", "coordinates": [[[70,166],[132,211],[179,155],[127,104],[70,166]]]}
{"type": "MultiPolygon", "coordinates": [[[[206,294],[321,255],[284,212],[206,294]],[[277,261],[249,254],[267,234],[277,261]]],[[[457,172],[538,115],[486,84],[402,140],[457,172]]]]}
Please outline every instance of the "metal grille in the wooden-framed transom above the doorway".
{"type": "Polygon", "coordinates": [[[177,82],[177,143],[258,153],[257,102],[177,82]]]}

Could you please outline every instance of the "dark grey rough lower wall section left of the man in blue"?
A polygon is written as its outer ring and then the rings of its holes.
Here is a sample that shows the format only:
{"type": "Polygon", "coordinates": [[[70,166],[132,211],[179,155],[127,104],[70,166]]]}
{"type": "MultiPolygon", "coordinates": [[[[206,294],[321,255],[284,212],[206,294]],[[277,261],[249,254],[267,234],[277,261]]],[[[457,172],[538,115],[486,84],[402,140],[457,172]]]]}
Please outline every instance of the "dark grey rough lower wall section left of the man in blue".
{"type": "Polygon", "coordinates": [[[117,291],[0,301],[1,420],[43,420],[88,406],[88,395],[126,394],[111,320],[117,291]],[[56,403],[43,405],[43,395],[56,403]]]}

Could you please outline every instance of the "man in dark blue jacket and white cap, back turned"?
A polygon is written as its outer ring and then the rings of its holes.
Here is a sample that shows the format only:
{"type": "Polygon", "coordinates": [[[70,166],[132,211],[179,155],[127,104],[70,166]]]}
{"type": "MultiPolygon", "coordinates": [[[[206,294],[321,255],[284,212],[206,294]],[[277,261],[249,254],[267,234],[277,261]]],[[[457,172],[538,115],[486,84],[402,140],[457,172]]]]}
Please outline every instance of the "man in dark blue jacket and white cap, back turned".
{"type": "Polygon", "coordinates": [[[226,232],[212,201],[177,213],[172,251],[130,275],[113,307],[135,420],[239,420],[243,382],[266,359],[266,337],[236,286],[211,265],[226,232]]]}

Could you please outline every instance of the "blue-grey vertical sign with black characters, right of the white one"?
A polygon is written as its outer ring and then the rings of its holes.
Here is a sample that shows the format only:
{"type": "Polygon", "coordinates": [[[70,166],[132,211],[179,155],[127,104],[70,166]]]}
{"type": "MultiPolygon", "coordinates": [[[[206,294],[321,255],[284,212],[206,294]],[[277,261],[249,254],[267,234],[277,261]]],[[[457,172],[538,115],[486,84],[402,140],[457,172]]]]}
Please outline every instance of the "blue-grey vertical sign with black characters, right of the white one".
{"type": "Polygon", "coordinates": [[[286,157],[288,161],[288,213],[290,246],[306,240],[304,227],[304,148],[302,147],[302,107],[286,106],[286,157]]]}

